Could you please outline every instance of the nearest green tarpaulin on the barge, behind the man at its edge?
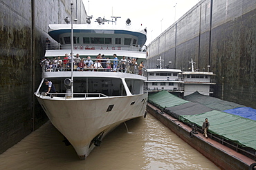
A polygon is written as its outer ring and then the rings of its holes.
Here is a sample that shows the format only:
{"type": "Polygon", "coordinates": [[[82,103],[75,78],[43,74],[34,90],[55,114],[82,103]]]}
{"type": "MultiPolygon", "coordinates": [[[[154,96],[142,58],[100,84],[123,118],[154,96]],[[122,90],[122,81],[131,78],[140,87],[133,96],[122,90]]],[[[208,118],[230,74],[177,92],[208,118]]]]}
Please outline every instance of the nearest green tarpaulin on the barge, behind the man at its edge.
{"type": "Polygon", "coordinates": [[[255,120],[217,110],[208,111],[203,114],[182,115],[179,117],[179,119],[185,123],[194,123],[200,127],[205,121],[205,118],[208,118],[210,122],[210,133],[232,140],[238,145],[256,149],[255,120]]]}

